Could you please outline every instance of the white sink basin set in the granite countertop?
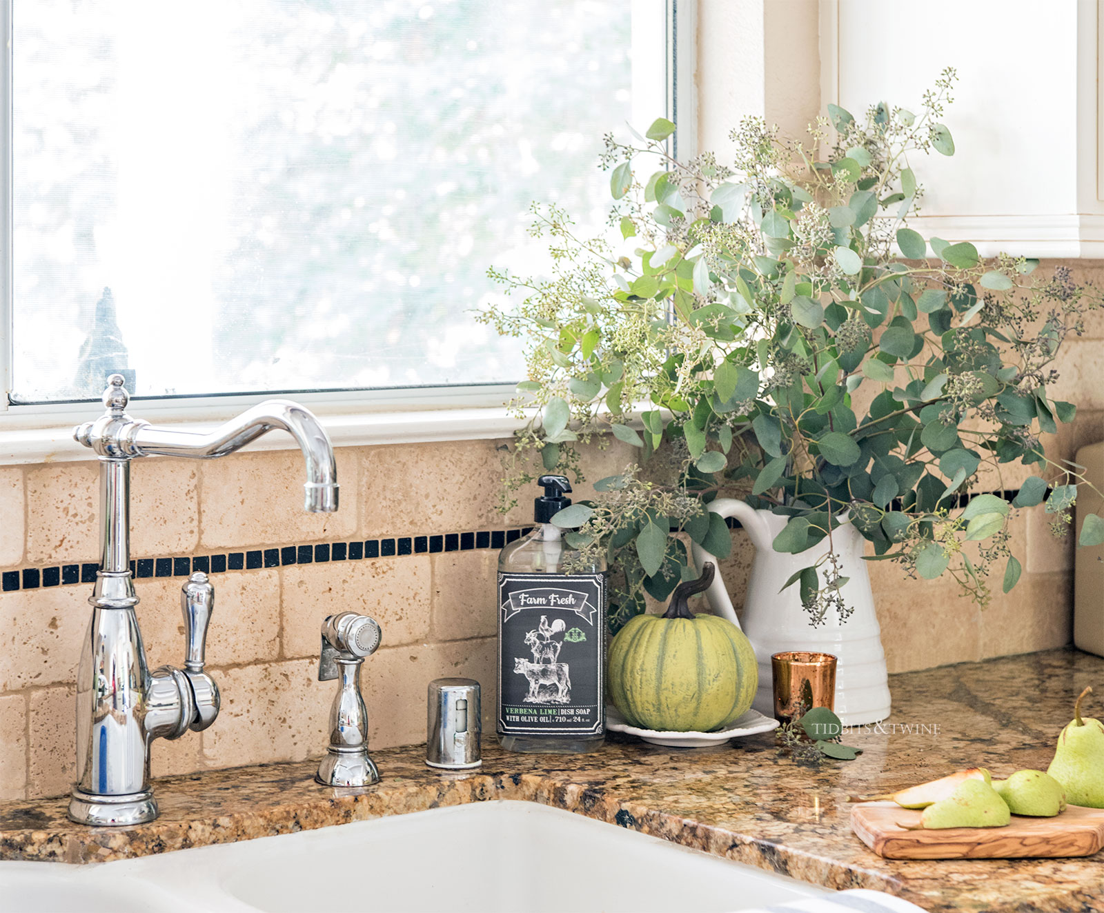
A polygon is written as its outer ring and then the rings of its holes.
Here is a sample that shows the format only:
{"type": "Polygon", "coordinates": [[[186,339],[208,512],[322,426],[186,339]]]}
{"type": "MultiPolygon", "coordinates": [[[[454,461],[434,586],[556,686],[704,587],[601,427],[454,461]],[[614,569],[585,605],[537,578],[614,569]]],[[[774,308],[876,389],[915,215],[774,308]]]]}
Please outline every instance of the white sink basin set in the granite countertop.
{"type": "Polygon", "coordinates": [[[20,913],[98,910],[89,902],[110,898],[113,885],[119,902],[104,909],[115,913],[722,913],[827,893],[528,802],[434,808],[95,867],[0,863],[4,909],[20,913]],[[35,902],[9,907],[11,877],[34,870],[39,890],[20,896],[35,902]]]}

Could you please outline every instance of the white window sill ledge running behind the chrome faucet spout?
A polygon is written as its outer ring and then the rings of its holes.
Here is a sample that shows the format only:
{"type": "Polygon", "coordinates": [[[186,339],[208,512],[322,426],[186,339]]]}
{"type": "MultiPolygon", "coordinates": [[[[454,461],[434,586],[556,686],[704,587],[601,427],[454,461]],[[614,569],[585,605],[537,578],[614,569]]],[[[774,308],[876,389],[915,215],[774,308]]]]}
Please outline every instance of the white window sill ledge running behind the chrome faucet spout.
{"type": "MultiPolygon", "coordinates": [[[[458,394],[450,397],[450,408],[439,408],[439,393],[434,391],[433,400],[427,395],[423,401],[407,395],[402,402],[388,402],[386,396],[375,396],[374,399],[383,401],[371,408],[368,398],[361,395],[295,394],[279,398],[294,399],[314,410],[335,447],[509,438],[523,423],[501,405],[513,393],[512,386],[475,395],[458,394]]],[[[269,398],[275,397],[137,400],[127,411],[155,425],[209,431],[254,402],[269,398]]],[[[103,407],[93,402],[10,408],[0,413],[0,465],[95,459],[87,448],[73,440],[73,428],[100,415],[103,407]]],[[[247,448],[295,449],[295,440],[280,431],[265,434],[247,448]]]]}

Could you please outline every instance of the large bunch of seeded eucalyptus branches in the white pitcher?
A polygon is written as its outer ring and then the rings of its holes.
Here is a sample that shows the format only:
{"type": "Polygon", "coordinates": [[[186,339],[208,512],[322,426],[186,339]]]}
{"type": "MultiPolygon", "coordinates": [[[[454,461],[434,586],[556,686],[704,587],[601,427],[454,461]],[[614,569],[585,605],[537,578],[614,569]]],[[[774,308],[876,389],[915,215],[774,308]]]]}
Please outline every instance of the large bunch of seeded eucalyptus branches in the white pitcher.
{"type": "MultiPolygon", "coordinates": [[[[872,558],[951,574],[981,602],[995,565],[1005,591],[1019,578],[1015,511],[1045,502],[1058,531],[1070,523],[1081,468],[1050,460],[1039,434],[1074,417],[1048,386],[1101,299],[1064,269],[1040,278],[1036,261],[983,261],[909,227],[923,198],[912,159],[954,152],[940,120],[954,79],[945,71],[920,114],[879,104],[860,120],[830,105],[805,144],[749,118],[731,167],[671,158],[662,119],[633,144],[607,137],[619,246],[534,207],[551,278],[490,271],[523,296],[480,314],[528,346],[511,484],[532,477],[534,450],[545,471],[573,469],[575,442],[595,432],[639,454],[554,519],[573,546],[609,552],[614,630],[645,592],[664,600],[694,576],[687,538],[729,554],[705,511],[722,491],[789,518],[776,550],[850,522],[872,558]],[[1015,501],[962,506],[962,493],[1017,487],[1012,463],[1033,473],[1015,501]]],[[[1080,541],[1102,540],[1090,515],[1080,541]]],[[[846,614],[835,567],[829,552],[787,582],[814,622],[846,614]]]]}

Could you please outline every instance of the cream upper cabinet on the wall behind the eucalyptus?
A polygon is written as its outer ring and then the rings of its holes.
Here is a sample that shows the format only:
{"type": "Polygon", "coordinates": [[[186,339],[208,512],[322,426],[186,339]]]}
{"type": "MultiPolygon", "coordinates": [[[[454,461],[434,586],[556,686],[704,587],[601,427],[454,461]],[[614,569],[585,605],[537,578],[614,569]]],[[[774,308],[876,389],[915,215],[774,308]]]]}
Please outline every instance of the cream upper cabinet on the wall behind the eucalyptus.
{"type": "Polygon", "coordinates": [[[820,108],[919,110],[945,66],[953,158],[912,161],[925,235],[984,256],[1104,257],[1097,0],[821,0],[820,108]]]}

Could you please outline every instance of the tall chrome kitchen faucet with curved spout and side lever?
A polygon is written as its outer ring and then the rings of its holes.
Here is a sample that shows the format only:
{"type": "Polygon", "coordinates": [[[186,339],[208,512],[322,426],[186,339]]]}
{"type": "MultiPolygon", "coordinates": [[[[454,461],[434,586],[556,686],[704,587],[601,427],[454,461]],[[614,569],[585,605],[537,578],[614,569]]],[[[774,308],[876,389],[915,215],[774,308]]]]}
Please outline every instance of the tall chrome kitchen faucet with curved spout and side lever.
{"type": "Polygon", "coordinates": [[[104,391],[107,411],[73,431],[99,459],[100,563],[77,672],[77,783],[68,807],[70,818],[87,825],[153,820],[158,810],[149,786],[150,743],[179,739],[189,729],[200,732],[219,716],[219,687],[203,670],[214,608],[206,574],[193,573],[181,592],[184,667],[150,672],[147,666],[130,573],[130,461],[225,456],[280,428],[295,438],[306,459],[305,509],[338,509],[333,448],[318,419],[302,406],[269,399],[201,434],[131,418],[123,383],[121,375],[113,374],[104,391]]]}

